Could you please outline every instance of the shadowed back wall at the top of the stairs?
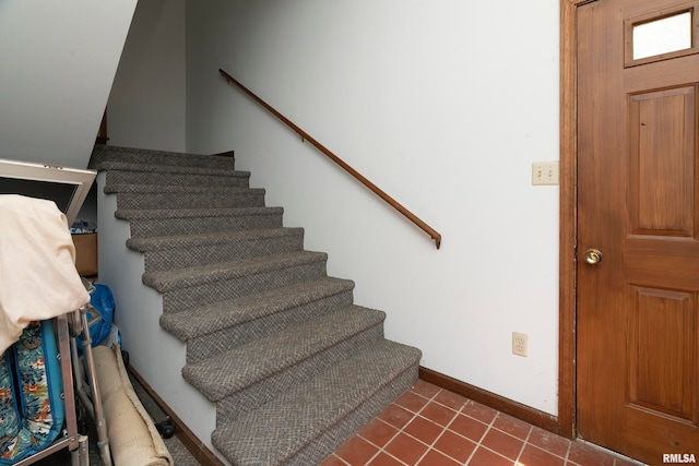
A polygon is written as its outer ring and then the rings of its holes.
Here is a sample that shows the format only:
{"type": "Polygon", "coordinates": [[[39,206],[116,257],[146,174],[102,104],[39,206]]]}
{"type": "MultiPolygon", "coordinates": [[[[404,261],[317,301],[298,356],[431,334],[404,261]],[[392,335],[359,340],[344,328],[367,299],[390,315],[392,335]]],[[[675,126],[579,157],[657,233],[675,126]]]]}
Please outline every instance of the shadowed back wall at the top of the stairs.
{"type": "Polygon", "coordinates": [[[107,105],[109,145],[183,152],[185,0],[139,2],[107,105]]]}

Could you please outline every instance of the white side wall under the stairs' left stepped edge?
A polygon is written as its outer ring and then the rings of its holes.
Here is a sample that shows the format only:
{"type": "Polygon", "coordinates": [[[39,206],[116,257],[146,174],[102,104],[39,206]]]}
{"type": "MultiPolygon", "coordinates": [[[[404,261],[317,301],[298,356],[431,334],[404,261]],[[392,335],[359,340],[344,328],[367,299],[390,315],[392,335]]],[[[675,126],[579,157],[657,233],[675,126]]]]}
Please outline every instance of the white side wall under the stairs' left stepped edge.
{"type": "MultiPolygon", "coordinates": [[[[187,345],[159,325],[163,295],[143,286],[143,254],[126,247],[129,223],[115,218],[117,196],[105,194],[106,174],[97,175],[99,220],[99,282],[109,286],[117,303],[115,325],[121,334],[129,363],[175,410],[185,425],[211,451],[216,406],[181,375],[187,345]]],[[[227,464],[227,463],[226,463],[227,464]]]]}

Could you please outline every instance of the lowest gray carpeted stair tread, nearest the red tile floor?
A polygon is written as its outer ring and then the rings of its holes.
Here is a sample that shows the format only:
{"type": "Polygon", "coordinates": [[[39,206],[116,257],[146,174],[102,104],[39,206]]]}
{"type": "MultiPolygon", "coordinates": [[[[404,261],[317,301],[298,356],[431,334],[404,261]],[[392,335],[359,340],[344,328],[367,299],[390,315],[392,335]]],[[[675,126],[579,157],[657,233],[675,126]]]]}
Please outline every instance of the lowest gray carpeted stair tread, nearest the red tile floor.
{"type": "Polygon", "coordinates": [[[237,466],[285,464],[380,387],[416,366],[420,356],[416,348],[377,342],[235,422],[220,426],[212,434],[213,444],[237,466]]]}

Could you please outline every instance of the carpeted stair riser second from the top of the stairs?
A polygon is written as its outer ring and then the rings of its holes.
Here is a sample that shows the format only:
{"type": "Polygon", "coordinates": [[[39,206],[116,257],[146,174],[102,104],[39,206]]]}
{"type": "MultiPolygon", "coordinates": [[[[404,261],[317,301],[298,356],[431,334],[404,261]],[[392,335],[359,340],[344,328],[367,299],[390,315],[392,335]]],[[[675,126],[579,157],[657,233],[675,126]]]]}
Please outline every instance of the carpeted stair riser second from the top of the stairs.
{"type": "MultiPolygon", "coordinates": [[[[235,174],[235,172],[232,172],[235,174]]],[[[169,174],[157,171],[107,171],[107,184],[209,186],[249,188],[248,176],[169,174]]]]}

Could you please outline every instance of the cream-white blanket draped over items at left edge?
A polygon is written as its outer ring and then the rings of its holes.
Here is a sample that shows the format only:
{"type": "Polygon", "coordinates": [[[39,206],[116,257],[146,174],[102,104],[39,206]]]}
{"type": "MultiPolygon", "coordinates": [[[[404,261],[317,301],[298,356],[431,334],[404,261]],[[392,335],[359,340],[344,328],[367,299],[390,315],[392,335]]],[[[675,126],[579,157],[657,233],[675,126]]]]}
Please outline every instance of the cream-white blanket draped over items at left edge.
{"type": "Polygon", "coordinates": [[[66,215],[52,201],[0,194],[0,354],[31,321],[87,302],[66,215]]]}

